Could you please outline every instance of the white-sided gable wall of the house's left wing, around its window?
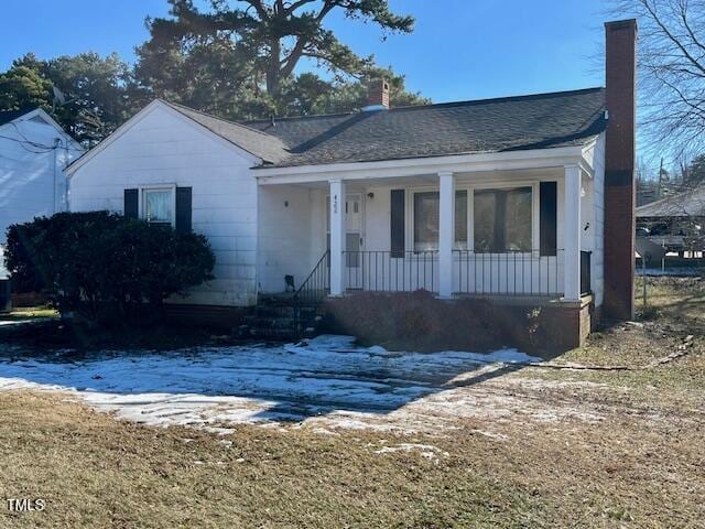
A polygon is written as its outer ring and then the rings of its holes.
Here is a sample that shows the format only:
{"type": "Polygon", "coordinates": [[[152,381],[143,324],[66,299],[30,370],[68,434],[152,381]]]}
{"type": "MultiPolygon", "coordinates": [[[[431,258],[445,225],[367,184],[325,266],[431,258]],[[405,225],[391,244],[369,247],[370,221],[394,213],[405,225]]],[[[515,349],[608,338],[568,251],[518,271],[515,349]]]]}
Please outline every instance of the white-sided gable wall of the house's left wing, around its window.
{"type": "Polygon", "coordinates": [[[258,201],[251,165],[236,148],[155,106],[74,173],[70,208],[122,213],[126,188],[192,187],[193,229],[210,241],[216,279],[173,301],[249,305],[257,301],[258,201]]]}

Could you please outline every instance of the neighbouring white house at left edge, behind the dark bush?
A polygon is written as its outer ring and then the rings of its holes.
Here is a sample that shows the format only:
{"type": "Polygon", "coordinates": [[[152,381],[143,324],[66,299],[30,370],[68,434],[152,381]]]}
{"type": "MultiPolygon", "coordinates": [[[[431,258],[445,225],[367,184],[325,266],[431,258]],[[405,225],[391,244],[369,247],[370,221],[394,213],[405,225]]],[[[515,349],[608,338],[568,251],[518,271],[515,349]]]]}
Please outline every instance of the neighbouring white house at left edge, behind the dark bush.
{"type": "Polygon", "coordinates": [[[40,108],[0,112],[0,276],[8,226],[66,210],[64,170],[83,152],[40,108]]]}

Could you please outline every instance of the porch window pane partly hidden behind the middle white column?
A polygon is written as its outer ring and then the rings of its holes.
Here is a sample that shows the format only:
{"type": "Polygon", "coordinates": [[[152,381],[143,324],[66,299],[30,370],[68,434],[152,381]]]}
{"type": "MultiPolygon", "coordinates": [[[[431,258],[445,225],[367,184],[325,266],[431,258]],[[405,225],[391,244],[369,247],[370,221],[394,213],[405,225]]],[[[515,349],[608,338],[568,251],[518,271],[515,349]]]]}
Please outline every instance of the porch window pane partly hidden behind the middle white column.
{"type": "MultiPolygon", "coordinates": [[[[438,249],[438,192],[414,193],[414,251],[438,249]]],[[[455,192],[455,246],[467,247],[467,191],[455,192]]]]}

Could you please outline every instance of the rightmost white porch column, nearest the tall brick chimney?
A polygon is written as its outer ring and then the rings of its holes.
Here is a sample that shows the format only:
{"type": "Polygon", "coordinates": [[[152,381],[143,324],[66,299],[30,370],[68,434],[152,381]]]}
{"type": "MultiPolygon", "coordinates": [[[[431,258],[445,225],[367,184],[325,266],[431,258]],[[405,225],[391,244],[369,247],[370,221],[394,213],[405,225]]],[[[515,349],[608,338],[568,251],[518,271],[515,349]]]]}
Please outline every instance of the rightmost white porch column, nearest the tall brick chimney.
{"type": "Polygon", "coordinates": [[[581,300],[581,168],[565,165],[563,186],[564,301],[581,300]]]}

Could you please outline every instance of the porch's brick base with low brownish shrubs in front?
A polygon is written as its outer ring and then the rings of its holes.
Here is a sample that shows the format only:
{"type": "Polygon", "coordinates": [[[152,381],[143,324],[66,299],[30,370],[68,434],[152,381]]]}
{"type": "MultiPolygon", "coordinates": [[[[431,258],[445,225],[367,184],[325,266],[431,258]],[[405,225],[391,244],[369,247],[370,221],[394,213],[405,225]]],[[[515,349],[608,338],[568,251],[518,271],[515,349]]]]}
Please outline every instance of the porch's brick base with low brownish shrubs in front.
{"type": "Polygon", "coordinates": [[[593,296],[551,299],[456,298],[424,291],[355,292],[325,301],[325,331],[405,350],[500,347],[551,355],[585,344],[597,324],[593,296]]]}

